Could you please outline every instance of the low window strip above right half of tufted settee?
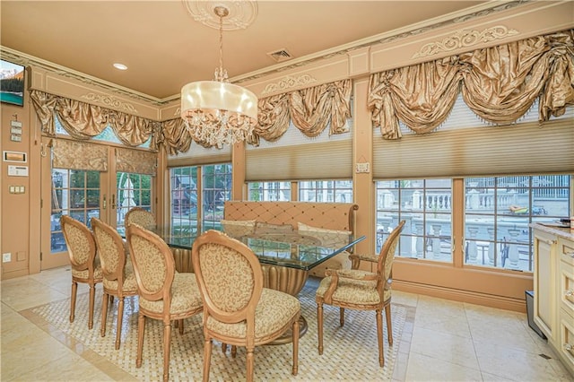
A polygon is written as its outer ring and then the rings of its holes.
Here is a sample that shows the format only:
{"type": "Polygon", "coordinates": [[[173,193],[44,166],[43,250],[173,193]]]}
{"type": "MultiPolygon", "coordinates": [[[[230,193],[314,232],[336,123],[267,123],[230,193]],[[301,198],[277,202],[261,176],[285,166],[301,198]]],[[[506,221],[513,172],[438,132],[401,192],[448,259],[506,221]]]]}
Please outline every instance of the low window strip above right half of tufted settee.
{"type": "Polygon", "coordinates": [[[299,182],[300,202],[352,203],[352,180],[299,182]]]}

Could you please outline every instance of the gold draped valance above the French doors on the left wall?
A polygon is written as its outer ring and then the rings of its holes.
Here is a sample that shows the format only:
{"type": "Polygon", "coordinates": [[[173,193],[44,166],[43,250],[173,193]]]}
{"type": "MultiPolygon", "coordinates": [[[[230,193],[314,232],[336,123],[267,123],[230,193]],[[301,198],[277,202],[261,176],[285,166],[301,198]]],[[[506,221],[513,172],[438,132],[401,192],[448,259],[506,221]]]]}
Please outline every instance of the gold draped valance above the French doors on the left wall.
{"type": "Polygon", "coordinates": [[[43,91],[30,91],[30,99],[42,123],[44,135],[56,136],[54,122],[56,114],[65,131],[76,140],[91,139],[99,135],[107,126],[111,126],[117,139],[126,146],[139,146],[152,136],[150,148],[158,149],[156,134],[153,133],[160,131],[160,122],[66,99],[43,91]]]}

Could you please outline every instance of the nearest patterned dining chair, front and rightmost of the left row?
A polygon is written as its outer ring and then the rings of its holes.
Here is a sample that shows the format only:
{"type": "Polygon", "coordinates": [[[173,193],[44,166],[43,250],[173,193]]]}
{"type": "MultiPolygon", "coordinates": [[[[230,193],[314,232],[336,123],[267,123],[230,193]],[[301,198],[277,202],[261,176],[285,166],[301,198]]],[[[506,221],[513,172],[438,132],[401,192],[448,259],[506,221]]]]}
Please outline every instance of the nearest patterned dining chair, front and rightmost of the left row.
{"type": "MultiPolygon", "coordinates": [[[[209,380],[213,339],[247,348],[247,380],[254,375],[255,347],[292,330],[292,374],[299,357],[300,302],[263,287],[257,256],[236,239],[208,230],[196,239],[192,262],[204,300],[204,381],[209,380]]],[[[279,349],[279,348],[278,348],[279,349]]]]}

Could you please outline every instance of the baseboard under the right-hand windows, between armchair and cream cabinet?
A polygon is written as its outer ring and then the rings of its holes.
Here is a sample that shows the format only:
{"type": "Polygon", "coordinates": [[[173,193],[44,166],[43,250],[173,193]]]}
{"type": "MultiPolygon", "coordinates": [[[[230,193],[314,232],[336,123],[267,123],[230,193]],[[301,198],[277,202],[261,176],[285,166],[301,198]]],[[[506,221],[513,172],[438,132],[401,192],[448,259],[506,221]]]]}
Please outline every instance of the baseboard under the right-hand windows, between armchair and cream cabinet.
{"type": "Polygon", "coordinates": [[[406,291],[425,296],[438,297],[445,300],[468,302],[470,304],[482,305],[485,307],[526,313],[526,298],[525,300],[518,300],[504,296],[495,296],[474,291],[459,291],[436,285],[404,282],[400,280],[393,280],[393,289],[396,291],[406,291]]]}

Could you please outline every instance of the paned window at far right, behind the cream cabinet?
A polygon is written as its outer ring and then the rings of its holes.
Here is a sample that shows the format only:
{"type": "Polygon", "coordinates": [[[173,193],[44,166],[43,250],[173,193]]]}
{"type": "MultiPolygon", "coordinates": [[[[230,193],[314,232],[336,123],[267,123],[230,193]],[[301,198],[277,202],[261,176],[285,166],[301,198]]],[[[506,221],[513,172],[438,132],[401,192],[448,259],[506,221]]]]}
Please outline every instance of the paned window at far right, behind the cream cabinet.
{"type": "Polygon", "coordinates": [[[465,264],[533,272],[528,224],[570,211],[570,176],[465,179],[465,264]]]}

